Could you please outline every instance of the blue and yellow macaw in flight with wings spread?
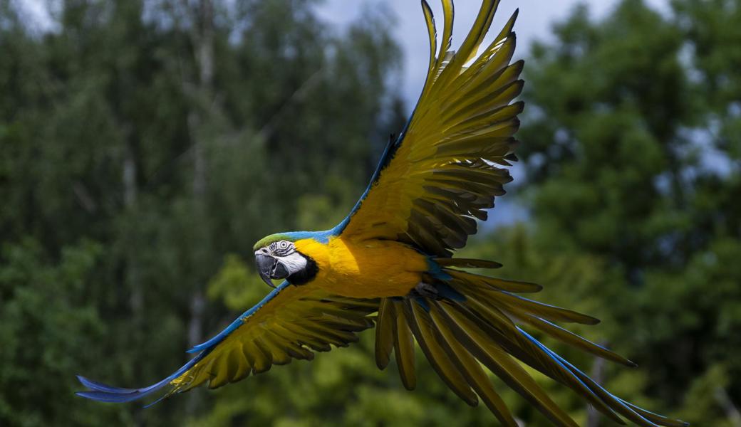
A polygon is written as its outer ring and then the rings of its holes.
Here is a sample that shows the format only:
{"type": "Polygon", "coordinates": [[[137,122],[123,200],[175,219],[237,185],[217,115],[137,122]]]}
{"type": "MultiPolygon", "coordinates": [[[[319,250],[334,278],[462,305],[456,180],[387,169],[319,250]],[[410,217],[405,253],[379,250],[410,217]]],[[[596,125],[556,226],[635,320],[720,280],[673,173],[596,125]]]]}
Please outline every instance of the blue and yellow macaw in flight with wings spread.
{"type": "MultiPolygon", "coordinates": [[[[129,402],[167,389],[160,399],[203,383],[215,389],[314,352],[348,346],[376,326],[376,364],[393,353],[405,388],[415,387],[415,343],[439,377],[465,403],[479,399],[504,426],[517,423],[484,367],[525,397],[556,426],[576,426],[521,363],[576,391],[618,423],[685,426],[645,411],[599,386],[525,329],[536,329],[585,352],[634,366],[555,322],[598,323],[594,317],[517,295],[541,286],[466,272],[497,268],[488,260],[453,258],[485,220],[511,181],[514,133],[522,101],[522,61],[511,63],[517,12],[479,54],[498,0],[484,0],[459,50],[451,48],[453,1],[442,0],[445,24],[436,53],[431,9],[422,0],[430,64],[419,102],[398,138],[389,141],[371,184],[350,215],[323,232],[284,232],[254,246],[259,275],[283,282],[169,377],[142,389],[105,386],[79,377],[102,402],[129,402]],[[622,417],[621,417],[622,416],[622,417]]],[[[158,400],[159,401],[159,400],[158,400]]]]}

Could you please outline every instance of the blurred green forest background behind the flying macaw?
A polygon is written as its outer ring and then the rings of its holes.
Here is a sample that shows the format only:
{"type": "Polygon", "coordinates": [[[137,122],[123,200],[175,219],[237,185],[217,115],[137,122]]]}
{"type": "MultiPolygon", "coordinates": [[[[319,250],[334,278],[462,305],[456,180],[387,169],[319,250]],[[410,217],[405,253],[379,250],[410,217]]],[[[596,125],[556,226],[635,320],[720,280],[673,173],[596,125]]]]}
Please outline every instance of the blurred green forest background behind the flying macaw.
{"type": "MultiPolygon", "coordinates": [[[[0,0],[0,425],[496,423],[421,354],[405,391],[369,333],[146,410],[74,396],[78,373],[159,380],[265,295],[253,242],[339,221],[412,106],[388,13],[337,33],[312,1],[62,0],[39,32],[18,4],[0,0]]],[[[740,0],[624,0],[556,24],[525,58],[526,178],[508,187],[525,214],[465,249],[602,318],[576,331],[639,369],[544,339],[696,426],[741,426],[740,22],[740,0]]],[[[611,425],[542,383],[579,423],[611,425]]]]}

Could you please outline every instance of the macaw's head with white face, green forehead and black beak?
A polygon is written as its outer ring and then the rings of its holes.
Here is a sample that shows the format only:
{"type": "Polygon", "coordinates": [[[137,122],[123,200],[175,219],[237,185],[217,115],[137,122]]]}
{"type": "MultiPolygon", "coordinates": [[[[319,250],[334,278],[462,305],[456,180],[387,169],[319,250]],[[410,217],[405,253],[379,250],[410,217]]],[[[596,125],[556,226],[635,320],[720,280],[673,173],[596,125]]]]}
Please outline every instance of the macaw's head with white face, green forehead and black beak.
{"type": "Polygon", "coordinates": [[[316,275],[314,260],[299,252],[288,235],[270,235],[257,242],[253,249],[257,272],[269,286],[275,287],[271,279],[286,279],[291,284],[301,285],[316,275]]]}

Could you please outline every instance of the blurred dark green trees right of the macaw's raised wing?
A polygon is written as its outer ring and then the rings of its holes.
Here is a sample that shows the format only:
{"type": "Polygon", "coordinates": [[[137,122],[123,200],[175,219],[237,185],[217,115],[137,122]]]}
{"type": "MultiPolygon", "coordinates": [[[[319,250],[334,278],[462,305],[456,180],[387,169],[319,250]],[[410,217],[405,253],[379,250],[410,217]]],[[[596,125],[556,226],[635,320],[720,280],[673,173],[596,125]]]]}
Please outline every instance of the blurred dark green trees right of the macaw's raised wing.
{"type": "Polygon", "coordinates": [[[741,2],[672,7],[662,16],[625,0],[602,22],[578,8],[556,43],[534,47],[526,192],[539,241],[599,255],[619,275],[594,291],[600,315],[614,317],[605,338],[639,363],[642,388],[688,421],[731,426],[741,405],[741,2]]]}

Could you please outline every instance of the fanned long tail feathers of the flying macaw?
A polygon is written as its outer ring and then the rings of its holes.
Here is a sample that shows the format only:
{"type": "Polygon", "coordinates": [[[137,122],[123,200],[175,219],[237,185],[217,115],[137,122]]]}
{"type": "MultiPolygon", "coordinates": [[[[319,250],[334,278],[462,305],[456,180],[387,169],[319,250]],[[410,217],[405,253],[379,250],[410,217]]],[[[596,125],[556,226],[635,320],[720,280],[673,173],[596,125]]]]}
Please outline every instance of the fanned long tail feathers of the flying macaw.
{"type": "Polygon", "coordinates": [[[453,265],[458,264],[448,262],[443,267],[449,277],[446,286],[465,300],[415,296],[381,302],[376,363],[384,369],[393,351],[407,389],[413,389],[415,384],[413,342],[416,340],[433,369],[457,396],[471,406],[482,400],[503,426],[517,424],[480,365],[521,394],[556,426],[576,427],[576,423],[548,397],[521,363],[568,386],[617,423],[625,424],[627,419],[644,427],[687,426],[614,396],[521,328],[530,326],[591,354],[635,366],[625,357],[553,323],[594,324],[599,320],[519,297],[502,289],[505,286],[499,285],[499,279],[459,272],[449,267],[453,265]]]}

